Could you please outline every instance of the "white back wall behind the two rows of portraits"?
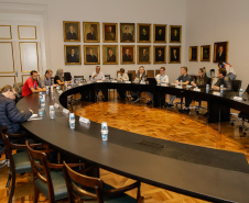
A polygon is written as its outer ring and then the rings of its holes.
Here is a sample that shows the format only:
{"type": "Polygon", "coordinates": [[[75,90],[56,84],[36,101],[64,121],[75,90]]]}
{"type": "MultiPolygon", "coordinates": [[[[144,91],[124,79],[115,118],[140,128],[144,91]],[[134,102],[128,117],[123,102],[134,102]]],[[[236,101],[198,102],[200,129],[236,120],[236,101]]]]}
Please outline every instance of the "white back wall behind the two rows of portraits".
{"type": "MultiPolygon", "coordinates": [[[[102,22],[110,23],[162,23],[167,25],[183,25],[182,46],[185,46],[185,24],[186,24],[186,0],[53,0],[47,7],[47,22],[44,22],[45,41],[46,41],[46,59],[47,68],[54,71],[57,68],[63,68],[64,71],[71,71],[72,75],[84,75],[88,78],[95,70],[95,65],[65,65],[64,63],[64,44],[80,44],[83,43],[83,24],[82,22],[99,22],[100,33],[102,22]],[[64,43],[63,38],[63,21],[80,21],[82,42],[80,43],[64,43]]],[[[153,25],[151,26],[153,29],[153,25]]],[[[119,29],[118,29],[119,31],[119,29]]],[[[137,32],[136,32],[137,33],[137,32]]],[[[169,33],[167,33],[169,35],[169,33]]],[[[120,41],[120,40],[119,40],[120,41]]],[[[137,36],[136,36],[137,41],[137,36]]],[[[100,50],[102,45],[100,38],[100,50]]],[[[169,42],[169,37],[167,37],[169,42]]],[[[90,43],[87,43],[90,44],[90,43]]],[[[94,43],[97,44],[97,43],[94,43]]],[[[108,44],[108,43],[105,43],[108,44]]],[[[110,43],[116,44],[116,43],[110,43]]],[[[119,45],[121,43],[118,43],[119,45]]],[[[122,43],[128,44],[128,43],[122,43]]],[[[131,43],[132,44],[132,43],[131,43]]],[[[153,45],[153,43],[133,43],[134,45],[153,45]]],[[[169,46],[170,43],[166,43],[169,46]]],[[[161,44],[156,44],[161,45],[161,44]]],[[[174,45],[174,44],[171,44],[174,45]]],[[[153,46],[151,47],[153,50],[153,46]]],[[[169,50],[169,47],[167,47],[169,50]]],[[[182,61],[185,61],[185,49],[182,49],[182,61]]],[[[101,52],[100,52],[101,53],[101,52]]],[[[120,46],[119,46],[120,55],[120,46]]],[[[100,59],[102,56],[100,54],[100,59]]],[[[153,57],[151,58],[153,63],[153,57]]],[[[167,52],[169,59],[169,52],[167,52]]],[[[102,64],[102,61],[100,61],[102,64]]],[[[139,65],[101,65],[104,74],[110,74],[116,77],[117,70],[123,67],[127,70],[134,70],[139,65]]],[[[120,58],[119,58],[120,64],[120,58]]],[[[184,63],[182,64],[184,65],[184,63]]],[[[166,64],[166,74],[170,80],[174,81],[182,66],[181,64],[166,64]]],[[[144,65],[145,69],[159,69],[162,65],[144,65]]]]}

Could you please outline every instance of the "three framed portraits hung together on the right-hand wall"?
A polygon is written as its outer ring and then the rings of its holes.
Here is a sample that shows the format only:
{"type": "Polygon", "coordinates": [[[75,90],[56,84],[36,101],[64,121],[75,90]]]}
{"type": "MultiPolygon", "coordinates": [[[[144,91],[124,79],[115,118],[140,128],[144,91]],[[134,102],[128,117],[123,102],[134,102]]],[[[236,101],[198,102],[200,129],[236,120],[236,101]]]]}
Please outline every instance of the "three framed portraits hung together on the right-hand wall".
{"type": "MultiPolygon", "coordinates": [[[[201,46],[201,61],[210,61],[210,45],[201,46]]],[[[228,60],[228,42],[214,43],[214,63],[228,60]]],[[[198,46],[190,46],[190,61],[198,61],[198,46]]]]}

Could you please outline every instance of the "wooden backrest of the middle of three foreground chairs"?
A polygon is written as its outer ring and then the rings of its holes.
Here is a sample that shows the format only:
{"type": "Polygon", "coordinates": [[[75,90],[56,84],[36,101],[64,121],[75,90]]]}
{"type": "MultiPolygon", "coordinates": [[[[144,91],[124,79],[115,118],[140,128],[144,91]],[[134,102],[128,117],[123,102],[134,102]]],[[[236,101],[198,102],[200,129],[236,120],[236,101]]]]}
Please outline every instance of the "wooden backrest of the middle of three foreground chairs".
{"type": "Polygon", "coordinates": [[[51,200],[54,200],[54,188],[47,167],[47,156],[45,153],[34,150],[30,147],[29,140],[26,140],[26,151],[30,158],[31,168],[33,172],[33,180],[41,180],[47,184],[48,195],[51,200]]]}

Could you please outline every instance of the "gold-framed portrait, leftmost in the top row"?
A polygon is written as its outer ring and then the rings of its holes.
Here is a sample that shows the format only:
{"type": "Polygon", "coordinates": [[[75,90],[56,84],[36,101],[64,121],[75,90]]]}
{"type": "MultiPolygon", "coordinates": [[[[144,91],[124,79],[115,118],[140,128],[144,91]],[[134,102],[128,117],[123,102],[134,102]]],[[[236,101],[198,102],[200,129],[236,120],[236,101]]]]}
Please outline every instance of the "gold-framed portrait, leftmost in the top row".
{"type": "Polygon", "coordinates": [[[63,21],[64,42],[80,42],[79,22],[63,21]]]}

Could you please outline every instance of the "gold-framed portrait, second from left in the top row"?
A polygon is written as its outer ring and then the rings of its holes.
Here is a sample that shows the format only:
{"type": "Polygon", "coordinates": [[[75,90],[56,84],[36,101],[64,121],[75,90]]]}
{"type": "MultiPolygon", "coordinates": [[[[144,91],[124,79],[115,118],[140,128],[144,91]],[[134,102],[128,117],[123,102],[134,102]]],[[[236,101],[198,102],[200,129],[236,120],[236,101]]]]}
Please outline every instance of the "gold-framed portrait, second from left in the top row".
{"type": "Polygon", "coordinates": [[[98,22],[83,22],[84,42],[99,43],[99,23],[98,22]]]}

